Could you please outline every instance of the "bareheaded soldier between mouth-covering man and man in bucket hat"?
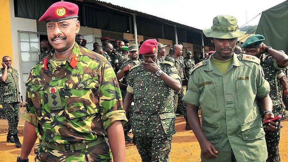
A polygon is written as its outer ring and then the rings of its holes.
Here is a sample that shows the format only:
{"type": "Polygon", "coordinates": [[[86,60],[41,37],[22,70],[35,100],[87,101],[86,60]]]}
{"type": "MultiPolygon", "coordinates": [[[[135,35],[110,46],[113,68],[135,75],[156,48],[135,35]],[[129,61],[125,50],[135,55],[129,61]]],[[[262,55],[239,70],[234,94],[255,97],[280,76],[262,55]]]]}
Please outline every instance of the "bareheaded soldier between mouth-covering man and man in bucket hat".
{"type": "MultiPolygon", "coordinates": [[[[166,55],[165,60],[170,61],[174,63],[176,69],[177,69],[177,74],[181,78],[181,85],[182,85],[182,80],[184,78],[183,74],[183,63],[181,63],[181,59],[179,57],[182,55],[182,46],[180,45],[174,45],[173,46],[173,53],[174,55],[166,55]]],[[[187,120],[187,115],[186,115],[186,104],[182,101],[182,98],[184,97],[184,90],[183,87],[181,86],[181,90],[179,92],[174,92],[174,112],[176,113],[179,111],[181,114],[184,115],[185,122],[186,122],[186,130],[191,130],[188,120],[187,120]]]]}

